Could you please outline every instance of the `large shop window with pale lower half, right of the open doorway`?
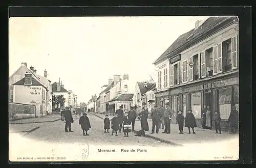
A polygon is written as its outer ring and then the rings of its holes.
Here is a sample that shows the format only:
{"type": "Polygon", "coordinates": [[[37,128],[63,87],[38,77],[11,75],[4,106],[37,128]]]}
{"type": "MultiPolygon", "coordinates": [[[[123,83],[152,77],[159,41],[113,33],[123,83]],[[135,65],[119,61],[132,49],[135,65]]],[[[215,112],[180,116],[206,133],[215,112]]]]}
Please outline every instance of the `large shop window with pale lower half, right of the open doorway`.
{"type": "Polygon", "coordinates": [[[219,91],[219,111],[221,119],[227,120],[231,111],[231,88],[220,89],[219,91]]]}

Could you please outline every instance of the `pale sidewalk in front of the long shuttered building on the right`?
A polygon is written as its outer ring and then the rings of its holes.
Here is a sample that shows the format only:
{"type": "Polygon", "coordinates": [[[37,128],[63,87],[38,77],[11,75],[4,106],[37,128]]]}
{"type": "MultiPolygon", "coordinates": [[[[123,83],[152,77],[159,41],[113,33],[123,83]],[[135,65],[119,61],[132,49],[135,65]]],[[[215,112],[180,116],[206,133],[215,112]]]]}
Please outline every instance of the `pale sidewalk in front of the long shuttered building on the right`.
{"type": "MultiPolygon", "coordinates": [[[[104,119],[105,115],[95,114],[96,116],[104,119]]],[[[112,118],[112,117],[111,117],[112,118]]],[[[188,129],[184,128],[184,134],[179,134],[178,124],[171,124],[171,133],[165,134],[162,133],[164,129],[159,129],[159,133],[156,132],[151,134],[152,130],[152,121],[148,121],[149,131],[145,131],[147,137],[154,138],[158,141],[173,144],[173,145],[188,145],[188,144],[199,144],[199,143],[210,143],[216,141],[223,141],[226,139],[237,138],[239,139],[239,134],[231,135],[229,132],[222,132],[222,134],[216,134],[215,130],[195,128],[196,134],[188,134],[188,129]]],[[[136,120],[135,130],[138,131],[141,129],[140,121],[136,120]]]]}

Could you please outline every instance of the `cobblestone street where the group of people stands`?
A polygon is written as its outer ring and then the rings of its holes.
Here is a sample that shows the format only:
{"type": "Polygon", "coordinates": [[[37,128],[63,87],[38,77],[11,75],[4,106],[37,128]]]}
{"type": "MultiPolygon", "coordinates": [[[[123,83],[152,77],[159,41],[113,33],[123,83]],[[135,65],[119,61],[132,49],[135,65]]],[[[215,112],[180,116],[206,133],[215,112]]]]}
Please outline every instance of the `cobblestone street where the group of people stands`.
{"type": "MultiPolygon", "coordinates": [[[[134,133],[130,133],[129,137],[124,137],[123,132],[118,133],[118,136],[111,136],[111,133],[103,133],[103,120],[93,114],[88,114],[92,128],[88,131],[90,136],[83,136],[80,125],[78,124],[79,118],[74,118],[72,130],[74,132],[65,132],[65,122],[56,121],[52,123],[38,123],[39,129],[36,129],[24,137],[34,139],[36,141],[44,141],[49,143],[84,143],[87,142],[91,145],[139,145],[139,146],[170,146],[161,143],[152,138],[137,137],[134,133]]],[[[18,124],[22,126],[24,124],[18,124]]],[[[36,124],[33,124],[36,126],[36,124]]],[[[110,130],[111,132],[111,130],[110,130]]],[[[11,138],[12,133],[10,134],[11,138]]]]}

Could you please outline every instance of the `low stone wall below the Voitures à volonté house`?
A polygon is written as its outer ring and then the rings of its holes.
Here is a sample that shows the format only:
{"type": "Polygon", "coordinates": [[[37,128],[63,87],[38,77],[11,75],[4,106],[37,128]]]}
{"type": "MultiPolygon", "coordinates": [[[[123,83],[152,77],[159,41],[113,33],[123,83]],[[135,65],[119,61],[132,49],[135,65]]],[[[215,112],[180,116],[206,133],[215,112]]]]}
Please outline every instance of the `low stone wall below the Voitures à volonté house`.
{"type": "Polygon", "coordinates": [[[35,106],[31,104],[9,102],[9,120],[34,118],[35,106]]]}

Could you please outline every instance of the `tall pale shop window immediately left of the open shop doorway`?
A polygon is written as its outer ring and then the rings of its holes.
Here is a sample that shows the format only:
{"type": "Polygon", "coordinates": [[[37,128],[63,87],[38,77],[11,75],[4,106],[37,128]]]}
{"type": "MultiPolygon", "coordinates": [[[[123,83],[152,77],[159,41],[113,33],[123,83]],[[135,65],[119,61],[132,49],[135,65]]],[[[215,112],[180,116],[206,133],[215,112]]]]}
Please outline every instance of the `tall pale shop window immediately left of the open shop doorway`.
{"type": "Polygon", "coordinates": [[[201,92],[191,93],[191,109],[195,118],[201,118],[201,92]]]}

